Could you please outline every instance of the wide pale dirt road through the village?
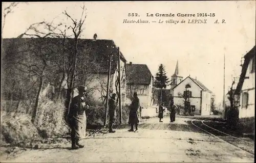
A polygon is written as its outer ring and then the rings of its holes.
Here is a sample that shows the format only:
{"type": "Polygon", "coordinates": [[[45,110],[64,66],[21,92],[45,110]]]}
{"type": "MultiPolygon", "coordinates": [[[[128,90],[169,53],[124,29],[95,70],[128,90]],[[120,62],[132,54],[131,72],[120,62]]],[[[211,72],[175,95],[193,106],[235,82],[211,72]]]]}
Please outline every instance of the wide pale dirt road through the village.
{"type": "Polygon", "coordinates": [[[139,132],[126,128],[84,139],[86,148],[70,144],[47,150],[30,150],[1,162],[253,162],[254,155],[200,131],[188,121],[157,118],[140,124],[139,132]]]}

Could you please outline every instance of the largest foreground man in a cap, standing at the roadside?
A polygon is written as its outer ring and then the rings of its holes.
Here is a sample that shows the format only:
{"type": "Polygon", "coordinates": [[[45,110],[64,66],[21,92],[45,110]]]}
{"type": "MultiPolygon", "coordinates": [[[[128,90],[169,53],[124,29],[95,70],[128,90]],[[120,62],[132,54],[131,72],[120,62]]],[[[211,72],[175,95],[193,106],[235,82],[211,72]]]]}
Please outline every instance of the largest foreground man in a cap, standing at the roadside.
{"type": "Polygon", "coordinates": [[[75,96],[71,101],[70,106],[70,126],[71,126],[71,149],[83,148],[84,145],[80,145],[78,142],[81,139],[81,129],[85,127],[84,123],[84,114],[87,109],[89,109],[89,105],[87,103],[84,95],[87,91],[87,87],[79,86],[78,87],[78,95],[75,96]]]}

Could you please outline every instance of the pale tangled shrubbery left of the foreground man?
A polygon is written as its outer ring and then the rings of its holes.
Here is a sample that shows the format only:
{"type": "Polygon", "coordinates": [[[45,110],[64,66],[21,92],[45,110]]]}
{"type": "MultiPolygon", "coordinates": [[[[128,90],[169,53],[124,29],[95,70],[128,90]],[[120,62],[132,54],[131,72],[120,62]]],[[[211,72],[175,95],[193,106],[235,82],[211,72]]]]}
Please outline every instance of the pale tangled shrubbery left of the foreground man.
{"type": "Polygon", "coordinates": [[[26,105],[22,105],[22,108],[18,108],[18,113],[9,112],[12,111],[11,108],[7,108],[9,106],[12,105],[5,105],[5,108],[1,108],[1,141],[6,143],[30,142],[38,137],[47,138],[50,135],[68,132],[68,127],[62,118],[65,107],[61,100],[51,101],[42,97],[35,124],[31,123],[31,106],[26,108],[26,105]]]}

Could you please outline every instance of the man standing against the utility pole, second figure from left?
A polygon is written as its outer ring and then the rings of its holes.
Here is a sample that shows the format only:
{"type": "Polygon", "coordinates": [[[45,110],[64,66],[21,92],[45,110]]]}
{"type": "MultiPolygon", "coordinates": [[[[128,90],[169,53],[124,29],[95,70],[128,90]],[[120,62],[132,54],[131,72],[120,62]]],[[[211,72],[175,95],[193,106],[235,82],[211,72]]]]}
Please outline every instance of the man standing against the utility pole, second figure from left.
{"type": "Polygon", "coordinates": [[[116,119],[116,94],[113,93],[111,99],[109,100],[109,114],[110,114],[110,122],[109,122],[109,132],[116,132],[113,130],[113,124],[116,119]]]}

